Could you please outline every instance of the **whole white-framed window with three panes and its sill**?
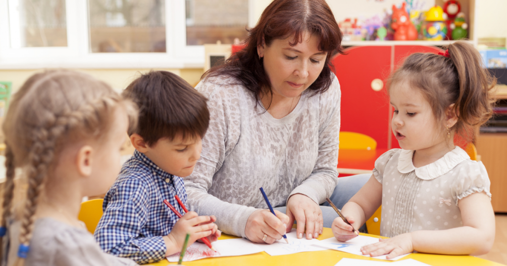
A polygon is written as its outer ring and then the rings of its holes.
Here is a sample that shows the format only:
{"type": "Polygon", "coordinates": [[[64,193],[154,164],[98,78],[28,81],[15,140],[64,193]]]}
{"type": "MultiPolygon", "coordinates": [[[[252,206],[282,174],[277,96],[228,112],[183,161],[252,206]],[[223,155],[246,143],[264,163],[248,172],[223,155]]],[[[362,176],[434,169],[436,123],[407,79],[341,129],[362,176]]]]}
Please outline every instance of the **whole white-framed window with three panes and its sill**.
{"type": "Polygon", "coordinates": [[[261,2],[0,0],[0,69],[201,68],[203,44],[244,40],[261,2]]]}

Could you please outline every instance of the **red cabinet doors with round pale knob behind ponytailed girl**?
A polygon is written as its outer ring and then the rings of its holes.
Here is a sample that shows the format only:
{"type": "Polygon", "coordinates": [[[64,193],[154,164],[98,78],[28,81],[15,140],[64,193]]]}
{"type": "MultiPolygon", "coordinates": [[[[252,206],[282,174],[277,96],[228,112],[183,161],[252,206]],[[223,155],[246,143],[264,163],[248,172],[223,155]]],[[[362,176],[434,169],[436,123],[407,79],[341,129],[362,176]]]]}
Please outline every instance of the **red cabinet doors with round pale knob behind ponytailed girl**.
{"type": "Polygon", "coordinates": [[[342,91],[340,130],[371,136],[379,149],[400,147],[390,129],[392,107],[385,80],[408,55],[441,51],[432,46],[357,46],[335,56],[332,63],[342,91]],[[372,89],[380,81],[384,87],[372,89]]]}

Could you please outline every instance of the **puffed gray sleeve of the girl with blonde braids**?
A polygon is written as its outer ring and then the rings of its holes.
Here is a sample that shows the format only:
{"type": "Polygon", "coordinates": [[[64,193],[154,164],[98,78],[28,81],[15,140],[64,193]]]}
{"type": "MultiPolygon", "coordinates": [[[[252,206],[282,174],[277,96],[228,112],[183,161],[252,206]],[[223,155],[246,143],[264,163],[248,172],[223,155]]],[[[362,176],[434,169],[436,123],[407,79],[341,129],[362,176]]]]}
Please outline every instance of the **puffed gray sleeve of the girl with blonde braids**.
{"type": "Polygon", "coordinates": [[[130,266],[133,260],[115,257],[103,252],[88,232],[78,229],[65,230],[56,235],[46,249],[53,250],[50,265],[55,266],[130,266]],[[52,246],[52,247],[51,247],[52,246]]]}

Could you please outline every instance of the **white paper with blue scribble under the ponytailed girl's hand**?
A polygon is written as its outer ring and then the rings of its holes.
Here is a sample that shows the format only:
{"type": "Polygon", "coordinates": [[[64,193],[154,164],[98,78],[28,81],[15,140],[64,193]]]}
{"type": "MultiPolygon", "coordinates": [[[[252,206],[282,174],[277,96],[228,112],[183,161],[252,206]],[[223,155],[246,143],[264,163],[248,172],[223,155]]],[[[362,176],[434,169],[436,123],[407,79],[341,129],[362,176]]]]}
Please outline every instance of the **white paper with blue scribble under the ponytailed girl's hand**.
{"type": "MultiPolygon", "coordinates": [[[[360,251],[361,247],[366,246],[366,245],[370,245],[370,244],[374,244],[377,242],[379,242],[378,238],[367,237],[367,236],[358,236],[358,237],[355,237],[347,242],[340,242],[340,241],[336,240],[336,238],[333,237],[333,238],[328,238],[328,239],[324,239],[322,241],[319,241],[319,242],[315,243],[314,245],[318,245],[320,247],[325,247],[325,248],[329,248],[329,249],[335,249],[335,250],[339,250],[339,251],[343,251],[343,252],[347,252],[347,253],[351,253],[351,254],[355,254],[355,255],[369,257],[370,255],[363,255],[363,253],[360,251]]],[[[397,257],[394,257],[391,259],[387,259],[387,255],[376,256],[374,258],[384,259],[384,260],[397,260],[397,259],[403,258],[407,255],[408,254],[404,254],[404,255],[400,255],[400,256],[397,256],[397,257]]]]}

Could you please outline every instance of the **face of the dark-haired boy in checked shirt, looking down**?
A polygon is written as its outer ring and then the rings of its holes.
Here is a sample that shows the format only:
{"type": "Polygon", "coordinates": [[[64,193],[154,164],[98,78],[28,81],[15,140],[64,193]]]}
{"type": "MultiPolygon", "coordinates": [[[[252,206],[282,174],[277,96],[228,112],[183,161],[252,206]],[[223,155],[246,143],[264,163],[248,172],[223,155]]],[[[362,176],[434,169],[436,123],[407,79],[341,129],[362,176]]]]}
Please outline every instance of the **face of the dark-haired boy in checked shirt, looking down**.
{"type": "Polygon", "coordinates": [[[161,138],[143,152],[162,170],[179,177],[189,176],[201,158],[201,137],[183,139],[180,134],[174,139],[161,138]]]}

